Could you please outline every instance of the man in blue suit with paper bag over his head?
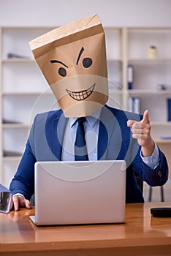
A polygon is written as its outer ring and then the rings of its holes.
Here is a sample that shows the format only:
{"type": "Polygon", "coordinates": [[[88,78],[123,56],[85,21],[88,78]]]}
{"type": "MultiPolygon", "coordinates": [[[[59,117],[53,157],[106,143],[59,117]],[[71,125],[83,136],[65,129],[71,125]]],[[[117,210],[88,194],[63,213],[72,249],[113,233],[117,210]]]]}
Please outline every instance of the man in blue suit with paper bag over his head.
{"type": "Polygon", "coordinates": [[[10,184],[15,211],[20,206],[31,208],[35,162],[76,160],[77,118],[81,117],[86,117],[83,148],[88,159],[126,160],[126,203],[143,202],[134,172],[149,185],[162,186],[168,178],[167,160],[151,138],[148,110],[139,116],[106,105],[106,50],[97,15],[50,31],[30,45],[61,109],[34,118],[10,184]]]}

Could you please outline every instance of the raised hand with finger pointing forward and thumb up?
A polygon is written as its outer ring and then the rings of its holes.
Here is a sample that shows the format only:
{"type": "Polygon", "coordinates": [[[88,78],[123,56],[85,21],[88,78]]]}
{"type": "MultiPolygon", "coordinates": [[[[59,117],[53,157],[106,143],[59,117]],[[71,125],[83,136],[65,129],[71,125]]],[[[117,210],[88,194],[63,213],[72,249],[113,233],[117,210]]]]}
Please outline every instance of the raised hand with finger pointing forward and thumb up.
{"type": "Polygon", "coordinates": [[[154,143],[151,138],[151,124],[148,117],[148,110],[145,110],[141,121],[128,120],[127,126],[131,127],[132,138],[142,146],[143,157],[150,157],[153,153],[154,143]]]}

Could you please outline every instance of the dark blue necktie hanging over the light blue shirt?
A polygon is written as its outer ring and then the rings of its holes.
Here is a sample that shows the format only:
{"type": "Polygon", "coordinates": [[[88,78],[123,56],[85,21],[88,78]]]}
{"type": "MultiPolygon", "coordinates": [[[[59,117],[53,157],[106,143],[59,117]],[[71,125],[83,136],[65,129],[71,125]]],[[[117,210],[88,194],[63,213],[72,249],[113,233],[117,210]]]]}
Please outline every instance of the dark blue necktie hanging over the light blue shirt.
{"type": "Polygon", "coordinates": [[[75,140],[75,161],[88,160],[88,153],[85,140],[84,122],[86,117],[77,118],[77,132],[75,140]]]}

